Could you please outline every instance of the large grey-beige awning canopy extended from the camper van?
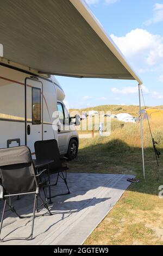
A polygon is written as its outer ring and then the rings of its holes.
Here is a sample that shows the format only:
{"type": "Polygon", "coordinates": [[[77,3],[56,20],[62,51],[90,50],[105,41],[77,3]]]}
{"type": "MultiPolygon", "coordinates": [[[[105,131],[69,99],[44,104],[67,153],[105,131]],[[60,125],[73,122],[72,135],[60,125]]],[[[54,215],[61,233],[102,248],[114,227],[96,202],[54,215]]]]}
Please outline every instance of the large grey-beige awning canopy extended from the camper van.
{"type": "Polygon", "coordinates": [[[43,74],[137,80],[83,0],[5,0],[4,57],[43,74]]]}

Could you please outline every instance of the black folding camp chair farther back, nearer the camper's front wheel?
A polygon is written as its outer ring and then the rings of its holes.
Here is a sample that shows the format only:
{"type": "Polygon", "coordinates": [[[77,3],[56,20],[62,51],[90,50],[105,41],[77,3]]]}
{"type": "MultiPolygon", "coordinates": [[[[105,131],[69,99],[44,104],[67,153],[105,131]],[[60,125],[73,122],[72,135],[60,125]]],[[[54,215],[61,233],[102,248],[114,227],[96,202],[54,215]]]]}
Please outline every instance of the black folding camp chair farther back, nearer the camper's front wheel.
{"type": "Polygon", "coordinates": [[[66,157],[61,157],[58,149],[58,143],[56,139],[49,139],[47,141],[36,141],[35,142],[35,155],[37,160],[53,160],[54,162],[49,164],[50,172],[57,173],[57,181],[55,184],[51,184],[51,181],[49,181],[49,198],[62,196],[65,194],[70,194],[70,190],[67,185],[67,163],[66,163],[66,157]],[[65,166],[62,166],[62,161],[65,162],[65,166]],[[65,175],[64,173],[65,172],[65,175]],[[62,194],[56,194],[55,196],[51,197],[51,186],[55,186],[58,183],[58,178],[61,178],[64,180],[65,185],[67,187],[67,193],[62,194]]]}

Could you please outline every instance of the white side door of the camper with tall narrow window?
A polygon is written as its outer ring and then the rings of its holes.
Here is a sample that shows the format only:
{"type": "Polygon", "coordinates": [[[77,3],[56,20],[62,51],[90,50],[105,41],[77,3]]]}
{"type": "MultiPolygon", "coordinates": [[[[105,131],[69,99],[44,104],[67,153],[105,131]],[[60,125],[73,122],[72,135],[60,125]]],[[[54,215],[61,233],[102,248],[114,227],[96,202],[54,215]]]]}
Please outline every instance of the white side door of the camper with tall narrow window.
{"type": "Polygon", "coordinates": [[[42,140],[42,95],[42,82],[26,78],[26,144],[33,154],[35,141],[42,140]]]}

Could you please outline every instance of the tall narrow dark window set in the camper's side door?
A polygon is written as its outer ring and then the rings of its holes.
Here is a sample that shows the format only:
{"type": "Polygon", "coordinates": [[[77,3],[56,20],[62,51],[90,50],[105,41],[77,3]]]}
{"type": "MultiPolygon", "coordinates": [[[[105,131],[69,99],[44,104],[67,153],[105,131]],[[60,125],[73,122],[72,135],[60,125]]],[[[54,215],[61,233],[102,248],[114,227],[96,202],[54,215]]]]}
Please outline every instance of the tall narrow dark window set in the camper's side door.
{"type": "Polygon", "coordinates": [[[41,124],[41,89],[32,88],[32,124],[41,124]]]}

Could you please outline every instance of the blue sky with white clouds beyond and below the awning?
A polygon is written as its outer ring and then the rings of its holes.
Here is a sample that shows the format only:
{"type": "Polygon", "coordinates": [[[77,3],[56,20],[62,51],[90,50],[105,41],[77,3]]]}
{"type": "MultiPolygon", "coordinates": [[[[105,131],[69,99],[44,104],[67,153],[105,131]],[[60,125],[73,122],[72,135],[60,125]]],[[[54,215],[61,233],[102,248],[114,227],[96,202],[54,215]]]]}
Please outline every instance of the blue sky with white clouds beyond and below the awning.
{"type": "MultiPolygon", "coordinates": [[[[143,81],[146,105],[163,105],[163,0],[85,0],[143,81]]],[[[56,77],[70,108],[138,105],[136,81],[56,77]]]]}

